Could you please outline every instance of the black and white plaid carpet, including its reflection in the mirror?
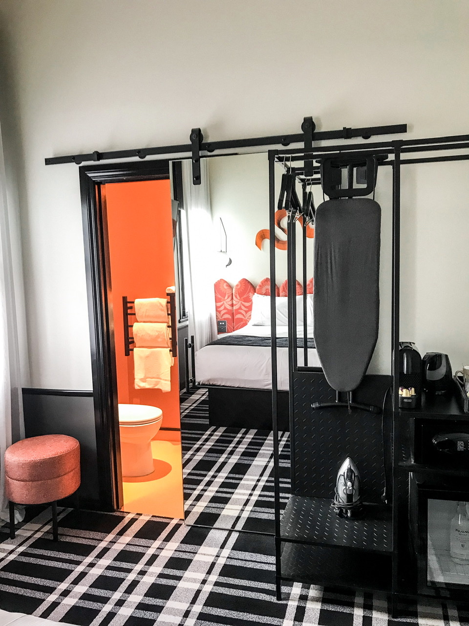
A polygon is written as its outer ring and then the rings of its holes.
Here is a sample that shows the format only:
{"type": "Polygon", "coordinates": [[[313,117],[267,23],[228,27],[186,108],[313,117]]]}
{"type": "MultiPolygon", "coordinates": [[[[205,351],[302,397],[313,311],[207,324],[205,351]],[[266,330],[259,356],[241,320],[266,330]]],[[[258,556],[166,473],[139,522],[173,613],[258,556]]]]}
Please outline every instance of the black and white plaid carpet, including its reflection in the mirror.
{"type": "MultiPolygon", "coordinates": [[[[221,446],[218,453],[209,439],[198,442],[195,435],[188,443],[186,471],[192,462],[200,473],[188,490],[193,496],[188,515],[266,532],[273,516],[266,504],[272,489],[266,433],[244,431],[238,451],[241,439],[235,433],[207,434],[206,424],[196,426],[198,417],[206,416],[203,393],[187,400],[186,408],[193,404],[194,431],[199,428],[202,438],[213,437],[221,446]],[[221,500],[214,494],[215,476],[204,481],[203,449],[209,456],[206,474],[219,468],[221,485],[236,478],[221,500]],[[238,508],[243,498],[251,507],[248,516],[238,508]],[[230,503],[233,513],[226,511],[230,503]]],[[[50,522],[50,510],[43,511],[20,525],[14,540],[0,527],[0,608],[78,626],[469,626],[469,614],[446,603],[429,600],[410,607],[406,618],[391,620],[385,595],[300,583],[286,583],[284,599],[277,602],[275,547],[266,534],[136,513],[63,510],[60,540],[54,543],[50,522]]]]}

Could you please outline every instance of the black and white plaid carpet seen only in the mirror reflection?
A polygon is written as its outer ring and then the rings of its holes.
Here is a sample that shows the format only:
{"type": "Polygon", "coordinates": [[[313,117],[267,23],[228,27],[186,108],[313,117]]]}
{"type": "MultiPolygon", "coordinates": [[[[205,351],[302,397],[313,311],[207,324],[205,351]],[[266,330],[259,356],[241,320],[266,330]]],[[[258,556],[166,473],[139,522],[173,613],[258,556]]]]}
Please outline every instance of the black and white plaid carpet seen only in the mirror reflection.
{"type": "MultiPolygon", "coordinates": [[[[290,495],[290,439],[279,433],[281,503],[290,495]]],[[[208,392],[181,396],[186,523],[274,533],[273,439],[270,431],[215,428],[208,392]]]]}

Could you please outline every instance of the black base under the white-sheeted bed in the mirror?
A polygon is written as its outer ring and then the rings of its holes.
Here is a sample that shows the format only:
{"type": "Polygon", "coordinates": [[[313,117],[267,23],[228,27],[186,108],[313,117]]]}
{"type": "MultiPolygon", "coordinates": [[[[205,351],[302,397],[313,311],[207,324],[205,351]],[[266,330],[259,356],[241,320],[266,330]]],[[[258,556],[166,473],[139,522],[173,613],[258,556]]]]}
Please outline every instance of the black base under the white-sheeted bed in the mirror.
{"type": "MultiPolygon", "coordinates": [[[[278,429],[290,431],[288,391],[278,391],[278,429]]],[[[244,387],[208,387],[210,426],[272,430],[272,392],[244,387]]]]}

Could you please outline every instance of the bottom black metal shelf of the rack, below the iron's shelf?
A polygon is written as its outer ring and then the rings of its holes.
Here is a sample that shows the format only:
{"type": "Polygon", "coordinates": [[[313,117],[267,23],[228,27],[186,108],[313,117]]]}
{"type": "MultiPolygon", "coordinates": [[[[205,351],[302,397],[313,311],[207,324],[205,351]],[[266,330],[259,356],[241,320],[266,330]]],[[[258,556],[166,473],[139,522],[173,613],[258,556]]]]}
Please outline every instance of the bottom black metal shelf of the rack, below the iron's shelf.
{"type": "Polygon", "coordinates": [[[281,553],[281,579],[306,585],[389,592],[392,558],[391,554],[286,543],[281,553]]]}

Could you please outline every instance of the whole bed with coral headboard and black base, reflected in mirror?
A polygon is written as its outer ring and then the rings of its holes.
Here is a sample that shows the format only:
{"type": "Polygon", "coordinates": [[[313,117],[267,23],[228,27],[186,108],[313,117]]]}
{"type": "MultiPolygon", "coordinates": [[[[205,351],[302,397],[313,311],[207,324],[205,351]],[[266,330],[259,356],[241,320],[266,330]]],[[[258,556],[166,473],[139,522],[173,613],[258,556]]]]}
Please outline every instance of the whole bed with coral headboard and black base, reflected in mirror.
{"type": "MultiPolygon", "coordinates": [[[[255,288],[241,279],[235,287],[220,279],[214,285],[217,321],[227,331],[196,352],[198,386],[208,387],[211,426],[271,429],[270,280],[255,288]]],[[[307,284],[308,366],[320,367],[313,340],[313,279],[307,284]]],[[[286,281],[276,286],[278,420],[288,430],[288,299],[286,281]]],[[[303,287],[296,282],[298,364],[304,364],[303,287]]]]}

